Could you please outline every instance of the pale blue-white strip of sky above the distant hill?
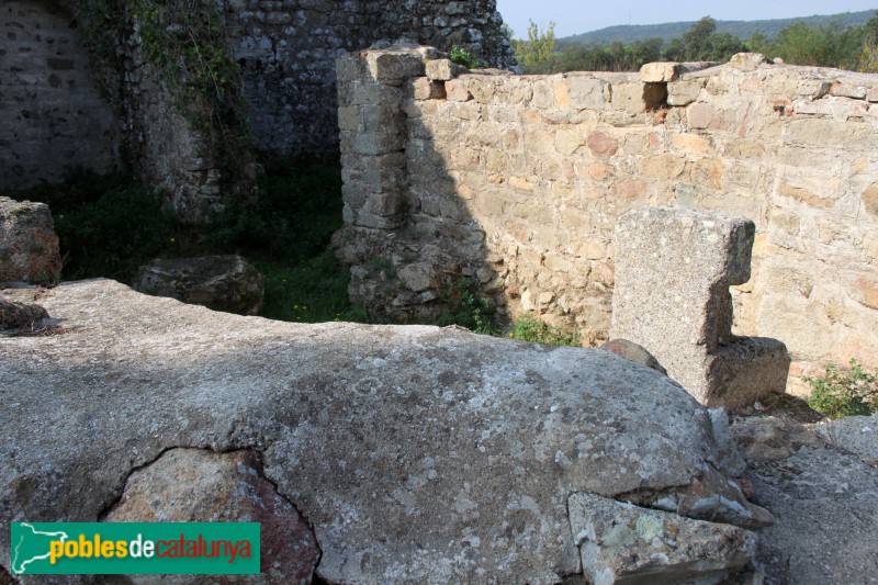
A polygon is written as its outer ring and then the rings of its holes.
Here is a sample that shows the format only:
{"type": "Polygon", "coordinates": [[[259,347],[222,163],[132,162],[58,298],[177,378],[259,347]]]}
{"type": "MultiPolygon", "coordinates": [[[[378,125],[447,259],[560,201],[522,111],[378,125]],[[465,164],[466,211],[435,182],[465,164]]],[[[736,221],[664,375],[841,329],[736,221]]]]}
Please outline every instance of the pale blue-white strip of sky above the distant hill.
{"type": "Polygon", "coordinates": [[[545,27],[555,21],[555,36],[597,31],[617,24],[660,24],[717,20],[766,20],[878,10],[878,0],[497,0],[503,20],[516,37],[527,34],[528,19],[545,27]]]}

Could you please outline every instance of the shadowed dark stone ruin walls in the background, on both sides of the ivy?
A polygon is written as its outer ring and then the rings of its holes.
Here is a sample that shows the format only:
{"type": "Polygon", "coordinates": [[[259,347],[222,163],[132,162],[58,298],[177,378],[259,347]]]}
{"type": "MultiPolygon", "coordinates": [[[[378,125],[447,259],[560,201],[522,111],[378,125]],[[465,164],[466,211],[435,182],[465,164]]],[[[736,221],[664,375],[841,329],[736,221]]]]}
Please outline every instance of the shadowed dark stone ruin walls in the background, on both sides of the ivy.
{"type": "MultiPolygon", "coordinates": [[[[221,164],[185,104],[150,74],[136,35],[120,40],[124,71],[102,70],[110,104],[82,47],[89,0],[8,1],[0,8],[0,188],[58,182],[67,168],[124,162],[168,193],[183,218],[219,196],[221,164]]],[[[338,150],[335,57],[381,38],[468,47],[510,65],[494,0],[376,2],[218,0],[241,66],[255,147],[279,159],[338,150]]]]}

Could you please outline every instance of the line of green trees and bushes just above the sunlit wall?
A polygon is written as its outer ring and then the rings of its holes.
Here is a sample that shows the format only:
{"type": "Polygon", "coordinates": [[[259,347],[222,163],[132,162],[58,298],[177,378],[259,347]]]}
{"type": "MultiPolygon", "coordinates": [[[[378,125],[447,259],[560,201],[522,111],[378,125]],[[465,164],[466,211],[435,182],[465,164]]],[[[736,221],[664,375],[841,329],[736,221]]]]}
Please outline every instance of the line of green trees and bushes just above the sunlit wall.
{"type": "MultiPolygon", "coordinates": [[[[742,52],[762,53],[792,65],[837,67],[878,72],[878,12],[862,26],[843,27],[838,21],[824,26],[796,22],[776,37],[761,33],[741,40],[717,32],[717,21],[705,16],[680,37],[665,42],[648,38],[623,45],[572,45],[556,50],[554,22],[547,30],[530,22],[527,40],[513,40],[525,74],[565,71],[637,71],[652,61],[728,61],[742,52]]],[[[513,33],[507,29],[511,38],[513,33]]]]}

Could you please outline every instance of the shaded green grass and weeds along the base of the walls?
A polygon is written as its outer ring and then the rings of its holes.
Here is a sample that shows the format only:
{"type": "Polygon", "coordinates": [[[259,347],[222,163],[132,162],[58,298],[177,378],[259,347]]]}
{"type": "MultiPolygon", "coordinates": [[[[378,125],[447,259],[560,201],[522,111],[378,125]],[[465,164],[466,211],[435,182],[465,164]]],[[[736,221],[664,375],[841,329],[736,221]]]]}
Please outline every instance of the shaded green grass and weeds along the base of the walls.
{"type": "MultiPolygon", "coordinates": [[[[47,203],[64,257],[63,279],[110,278],[132,284],[154,258],[238,254],[266,277],[261,315],[299,323],[378,323],[348,297],[349,272],[329,249],[341,227],[341,177],[337,162],[300,160],[266,165],[256,205],[230,205],[207,226],[184,226],[161,198],[126,175],[70,173],[61,184],[0,193],[47,203]]],[[[509,329],[472,286],[436,323],[481,334],[549,345],[579,345],[574,336],[525,316],[509,329]]]]}

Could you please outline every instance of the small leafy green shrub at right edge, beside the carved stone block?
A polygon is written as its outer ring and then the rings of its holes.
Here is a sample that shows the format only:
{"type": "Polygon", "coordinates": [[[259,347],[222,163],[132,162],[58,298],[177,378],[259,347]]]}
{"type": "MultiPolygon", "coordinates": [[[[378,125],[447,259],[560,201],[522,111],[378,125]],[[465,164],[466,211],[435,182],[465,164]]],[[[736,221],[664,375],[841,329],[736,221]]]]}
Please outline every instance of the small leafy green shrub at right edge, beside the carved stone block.
{"type": "Polygon", "coordinates": [[[878,370],[867,372],[857,360],[851,360],[851,370],[831,363],[824,375],[802,380],[812,389],[808,405],[830,418],[878,412],[878,370]]]}

